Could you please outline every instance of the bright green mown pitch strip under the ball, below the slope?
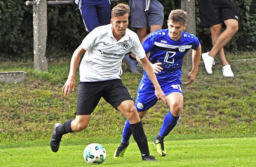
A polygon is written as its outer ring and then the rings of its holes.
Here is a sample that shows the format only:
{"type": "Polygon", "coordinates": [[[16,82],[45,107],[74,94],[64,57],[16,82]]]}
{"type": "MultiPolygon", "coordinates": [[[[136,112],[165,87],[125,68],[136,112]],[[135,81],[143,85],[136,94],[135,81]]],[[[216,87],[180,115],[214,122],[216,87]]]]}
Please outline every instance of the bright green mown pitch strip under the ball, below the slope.
{"type": "MultiPolygon", "coordinates": [[[[70,141],[76,143],[76,141],[70,141]]],[[[94,141],[92,141],[94,142],[94,141]]],[[[62,141],[62,144],[65,140],[62,141]]],[[[151,142],[151,154],[157,162],[145,162],[140,158],[138,146],[134,141],[126,149],[123,158],[114,159],[113,153],[118,143],[103,143],[107,157],[102,167],[250,167],[255,166],[256,138],[212,138],[166,141],[166,157],[159,157],[151,142]]],[[[61,145],[53,153],[44,143],[38,147],[14,147],[0,150],[0,166],[4,167],[66,167],[86,166],[83,149],[86,144],[61,145]]],[[[89,165],[88,165],[89,166],[89,165]]]]}

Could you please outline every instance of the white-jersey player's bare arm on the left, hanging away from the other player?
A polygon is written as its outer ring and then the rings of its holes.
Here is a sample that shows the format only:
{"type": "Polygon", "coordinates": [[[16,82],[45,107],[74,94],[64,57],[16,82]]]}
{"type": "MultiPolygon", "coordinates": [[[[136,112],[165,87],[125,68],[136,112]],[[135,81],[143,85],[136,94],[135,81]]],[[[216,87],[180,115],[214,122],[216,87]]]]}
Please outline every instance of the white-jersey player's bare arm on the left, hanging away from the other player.
{"type": "Polygon", "coordinates": [[[80,62],[80,58],[82,54],[84,54],[86,50],[82,48],[82,46],[78,46],[78,48],[75,50],[75,52],[72,55],[71,62],[70,62],[70,70],[68,74],[68,79],[64,86],[62,87],[62,92],[64,95],[69,95],[70,91],[75,90],[76,86],[76,69],[78,67],[78,64],[80,62]]]}

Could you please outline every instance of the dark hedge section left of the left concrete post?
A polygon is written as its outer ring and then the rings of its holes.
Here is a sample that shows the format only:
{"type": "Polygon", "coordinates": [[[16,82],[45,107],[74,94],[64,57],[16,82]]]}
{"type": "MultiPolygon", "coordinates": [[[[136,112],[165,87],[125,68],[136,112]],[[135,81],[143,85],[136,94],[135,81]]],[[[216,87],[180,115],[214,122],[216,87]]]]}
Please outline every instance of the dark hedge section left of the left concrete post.
{"type": "Polygon", "coordinates": [[[33,12],[24,1],[0,1],[1,57],[22,57],[33,52],[32,19],[33,12]]]}

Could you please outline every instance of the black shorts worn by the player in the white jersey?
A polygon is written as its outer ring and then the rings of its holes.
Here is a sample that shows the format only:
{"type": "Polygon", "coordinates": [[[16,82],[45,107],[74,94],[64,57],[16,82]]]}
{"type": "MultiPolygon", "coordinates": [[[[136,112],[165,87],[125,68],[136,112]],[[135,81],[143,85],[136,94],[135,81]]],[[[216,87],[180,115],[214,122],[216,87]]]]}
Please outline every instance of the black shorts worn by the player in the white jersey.
{"type": "Polygon", "coordinates": [[[125,100],[133,100],[120,79],[100,82],[80,82],[78,88],[76,115],[90,115],[101,97],[116,108],[125,100]]]}

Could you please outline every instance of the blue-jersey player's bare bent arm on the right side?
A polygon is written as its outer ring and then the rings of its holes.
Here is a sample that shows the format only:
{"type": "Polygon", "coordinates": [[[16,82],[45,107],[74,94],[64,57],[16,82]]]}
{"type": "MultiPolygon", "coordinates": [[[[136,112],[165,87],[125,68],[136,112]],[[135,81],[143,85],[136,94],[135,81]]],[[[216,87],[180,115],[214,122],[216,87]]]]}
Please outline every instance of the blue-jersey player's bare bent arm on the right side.
{"type": "Polygon", "coordinates": [[[188,82],[185,82],[185,85],[189,85],[196,79],[196,74],[198,72],[198,67],[201,59],[201,44],[196,50],[192,50],[192,70],[188,73],[188,82]]]}

